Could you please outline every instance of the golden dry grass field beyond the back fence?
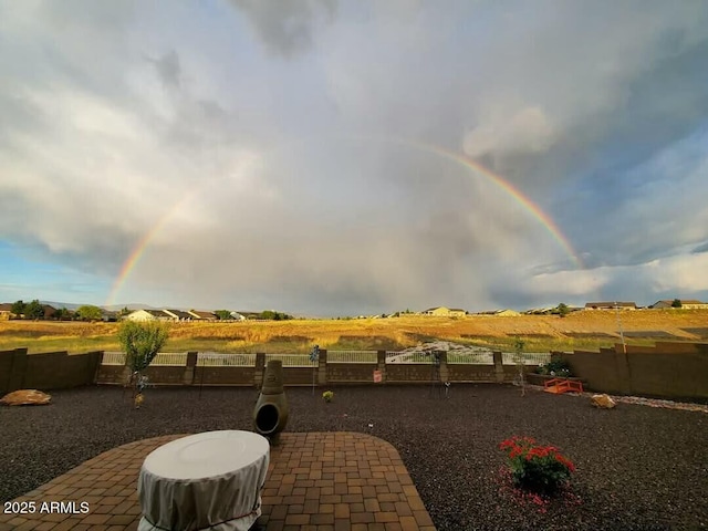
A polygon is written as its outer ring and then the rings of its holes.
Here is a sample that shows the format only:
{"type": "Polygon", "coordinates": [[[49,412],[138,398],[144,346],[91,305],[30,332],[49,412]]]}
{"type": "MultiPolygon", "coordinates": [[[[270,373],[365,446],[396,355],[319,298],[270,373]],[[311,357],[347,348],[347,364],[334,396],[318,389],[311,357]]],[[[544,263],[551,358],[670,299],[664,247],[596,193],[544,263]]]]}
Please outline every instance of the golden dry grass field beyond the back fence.
{"type": "MultiPolygon", "coordinates": [[[[357,320],[294,320],[243,323],[174,323],[166,351],[309,352],[397,350],[430,340],[512,350],[514,339],[527,352],[596,350],[620,343],[708,341],[708,310],[581,311],[558,315],[467,317],[405,316],[357,320]]],[[[116,323],[0,321],[0,350],[30,353],[117,350],[116,323]]]]}

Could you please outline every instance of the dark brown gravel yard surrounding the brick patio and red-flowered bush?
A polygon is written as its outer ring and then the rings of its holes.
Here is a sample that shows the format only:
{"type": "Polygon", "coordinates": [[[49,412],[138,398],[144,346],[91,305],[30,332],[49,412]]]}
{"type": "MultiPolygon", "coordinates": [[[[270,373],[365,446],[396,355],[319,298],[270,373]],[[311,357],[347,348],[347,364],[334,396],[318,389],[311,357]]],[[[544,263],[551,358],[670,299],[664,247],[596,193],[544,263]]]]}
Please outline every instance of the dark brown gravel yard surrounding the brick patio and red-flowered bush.
{"type": "MultiPolygon", "coordinates": [[[[498,385],[289,388],[288,431],[369,433],[392,442],[438,530],[708,529],[708,415],[498,385]],[[369,427],[369,424],[373,427],[369,427]],[[497,445],[528,435],[577,467],[573,501],[520,502],[497,445]]],[[[118,445],[167,434],[251,429],[246,388],[153,388],[142,409],[113,387],[53,393],[53,404],[0,407],[0,501],[118,445]]]]}

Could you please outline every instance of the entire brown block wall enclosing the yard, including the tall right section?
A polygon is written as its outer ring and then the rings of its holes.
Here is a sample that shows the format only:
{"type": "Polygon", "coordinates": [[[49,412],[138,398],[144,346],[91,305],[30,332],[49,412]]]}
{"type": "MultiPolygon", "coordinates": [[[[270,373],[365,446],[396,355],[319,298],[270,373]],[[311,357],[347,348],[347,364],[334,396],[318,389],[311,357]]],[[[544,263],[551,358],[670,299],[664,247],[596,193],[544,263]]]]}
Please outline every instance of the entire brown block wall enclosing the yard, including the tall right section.
{"type": "MultiPolygon", "coordinates": [[[[600,352],[554,352],[566,360],[573,373],[589,391],[645,395],[666,398],[708,400],[708,343],[662,342],[655,346],[615,345],[600,352]]],[[[254,386],[260,387],[266,368],[266,354],[251,355],[238,366],[211,366],[199,354],[181,356],[181,365],[152,365],[147,369],[150,384],[254,386]],[[186,361],[185,361],[186,360],[186,361]]],[[[207,356],[205,356],[206,358],[207,356]]],[[[291,356],[296,357],[296,356],[291,356]]],[[[306,356],[300,356],[306,358],[306,356]]],[[[502,353],[494,352],[492,363],[448,363],[447,353],[438,353],[435,363],[386,362],[386,352],[376,353],[365,362],[327,362],[327,351],[321,350],[314,364],[284,363],[285,385],[373,384],[374,371],[379,371],[383,384],[429,383],[509,383],[517,367],[503,363],[502,353]]],[[[433,358],[431,358],[433,360],[433,358]]],[[[124,365],[103,363],[102,352],[69,354],[52,352],[28,354],[27,348],[0,352],[0,392],[20,388],[59,389],[88,384],[125,385],[129,371],[124,365]]],[[[122,363],[122,362],[121,362],[122,363]]],[[[527,365],[531,373],[535,365],[527,365]]]]}

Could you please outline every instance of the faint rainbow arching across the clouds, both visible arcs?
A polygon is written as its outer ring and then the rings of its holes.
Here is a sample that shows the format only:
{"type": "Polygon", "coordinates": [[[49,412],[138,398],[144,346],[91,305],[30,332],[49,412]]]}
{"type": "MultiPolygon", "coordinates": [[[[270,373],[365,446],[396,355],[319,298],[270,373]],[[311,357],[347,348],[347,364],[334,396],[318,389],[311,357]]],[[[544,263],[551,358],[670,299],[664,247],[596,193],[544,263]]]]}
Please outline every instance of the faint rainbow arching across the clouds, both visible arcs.
{"type": "MultiPolygon", "coordinates": [[[[561,232],[559,227],[555,225],[553,219],[545,214],[541,207],[539,207],[535,202],[524,196],[519,189],[514,188],[510,183],[508,183],[500,175],[494,174],[490,169],[486,168],[481,164],[460,155],[450,149],[446,149],[444,147],[437,146],[435,144],[424,144],[416,140],[410,140],[407,138],[395,138],[395,137],[374,137],[374,136],[343,136],[342,138],[353,142],[363,142],[363,143],[379,143],[379,144],[391,144],[403,146],[407,148],[413,148],[423,153],[428,153],[431,155],[437,155],[441,158],[450,160],[451,163],[461,165],[468,170],[473,171],[476,175],[480,175],[486,177],[491,183],[493,183],[501,190],[511,196],[519,205],[521,205],[525,210],[528,210],[534,218],[537,218],[540,223],[545,228],[545,230],[553,237],[553,239],[561,246],[565,253],[571,258],[573,263],[577,269],[585,269],[584,264],[580,260],[577,253],[571,246],[568,238],[561,232]]],[[[157,222],[140,238],[140,240],[135,244],[133,250],[131,251],[128,258],[125,260],[123,266],[121,267],[121,271],[116,277],[115,282],[111,289],[108,298],[106,300],[106,305],[114,304],[116,295],[121,291],[121,288],[129,277],[131,272],[135,269],[137,262],[140,257],[153,241],[153,239],[163,230],[163,228],[167,225],[167,222],[178,212],[183,206],[189,201],[194,196],[196,196],[200,191],[199,189],[188,190],[185,196],[183,196],[171,208],[169,208],[162,218],[157,220],[157,222]]]]}

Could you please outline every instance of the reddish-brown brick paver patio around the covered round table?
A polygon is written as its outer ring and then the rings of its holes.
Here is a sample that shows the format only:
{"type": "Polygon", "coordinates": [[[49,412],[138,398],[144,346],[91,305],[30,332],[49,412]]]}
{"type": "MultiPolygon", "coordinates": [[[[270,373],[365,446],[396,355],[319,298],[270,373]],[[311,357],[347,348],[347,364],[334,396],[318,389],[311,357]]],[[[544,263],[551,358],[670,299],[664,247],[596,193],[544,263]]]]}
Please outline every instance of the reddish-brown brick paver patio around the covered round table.
{"type": "MultiPolygon", "coordinates": [[[[85,461],[12,500],[30,510],[33,503],[34,512],[0,512],[0,531],[136,530],[143,460],[180,437],[138,440],[85,461]]],[[[382,439],[340,431],[281,434],[270,451],[258,520],[266,531],[435,531],[400,456],[382,439]]]]}

